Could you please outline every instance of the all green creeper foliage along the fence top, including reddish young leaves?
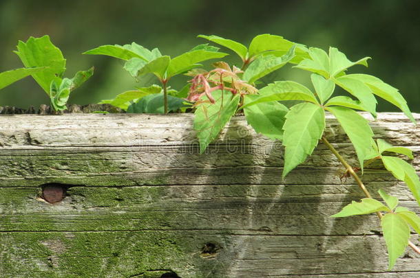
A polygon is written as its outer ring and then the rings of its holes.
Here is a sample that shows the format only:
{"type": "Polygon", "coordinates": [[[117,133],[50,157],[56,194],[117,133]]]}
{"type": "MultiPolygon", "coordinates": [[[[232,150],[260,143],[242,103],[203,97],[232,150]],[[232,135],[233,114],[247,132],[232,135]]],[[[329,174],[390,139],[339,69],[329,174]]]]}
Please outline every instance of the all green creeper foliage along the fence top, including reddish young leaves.
{"type": "MultiPolygon", "coordinates": [[[[285,148],[283,178],[313,153],[324,135],[326,113],[330,113],[353,143],[361,172],[366,163],[380,159],[386,170],[408,185],[420,205],[419,176],[410,163],[390,155],[402,154],[413,159],[411,150],[391,146],[381,139],[375,141],[368,120],[357,112],[366,111],[376,117],[376,97],[381,97],[401,109],[415,123],[398,89],[375,76],[348,73],[357,65],[368,67],[369,57],[353,62],[335,47],[330,47],[327,53],[271,34],[255,36],[248,47],[220,36],[199,37],[233,51],[239,56],[240,65],[231,67],[226,62],[216,62],[213,64],[215,69],[201,69],[200,62],[228,55],[209,43],[197,45],[174,58],[162,55],[157,48],[149,50],[137,43],[102,45],[85,51],[84,54],[111,56],[125,61],[123,68],[134,78],[149,75],[158,79],[158,84],[125,91],[101,103],[112,104],[127,113],[193,111],[193,126],[201,153],[217,139],[231,117],[243,111],[256,132],[282,141],[285,148]],[[309,71],[311,88],[286,80],[260,86],[261,78],[287,64],[309,71]],[[178,91],[168,83],[180,74],[193,79],[178,91]],[[346,91],[346,95],[337,95],[338,87],[346,91]],[[287,107],[283,101],[297,104],[287,107]]],[[[32,76],[57,111],[66,108],[70,92],[93,74],[92,68],[78,71],[74,78],[64,78],[66,60],[48,36],[31,37],[25,43],[19,41],[15,53],[25,68],[0,73],[0,89],[32,76]]],[[[386,205],[373,198],[364,198],[347,205],[333,217],[385,212],[381,226],[392,268],[408,245],[410,227],[420,232],[420,218],[414,212],[398,207],[397,198],[381,190],[379,194],[386,205]]]]}

